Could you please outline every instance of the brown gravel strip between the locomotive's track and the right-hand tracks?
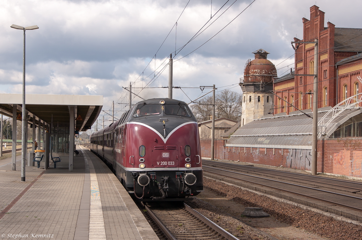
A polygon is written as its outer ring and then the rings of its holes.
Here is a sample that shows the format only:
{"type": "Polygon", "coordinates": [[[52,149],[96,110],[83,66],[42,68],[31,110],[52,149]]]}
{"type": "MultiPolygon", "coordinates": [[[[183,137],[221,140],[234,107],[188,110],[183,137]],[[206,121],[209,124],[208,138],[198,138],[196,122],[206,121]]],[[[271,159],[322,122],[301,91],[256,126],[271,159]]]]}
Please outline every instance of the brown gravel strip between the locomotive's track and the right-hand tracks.
{"type": "MultiPolygon", "coordinates": [[[[312,211],[300,209],[296,206],[289,204],[279,203],[273,199],[265,196],[260,196],[252,192],[241,190],[238,187],[229,186],[227,184],[204,178],[204,188],[206,191],[211,191],[216,196],[224,198],[225,205],[231,205],[231,213],[233,211],[240,211],[240,205],[245,207],[258,207],[270,214],[274,221],[279,222],[287,226],[290,226],[298,231],[307,233],[308,237],[301,237],[300,233],[296,231],[294,237],[284,236],[279,239],[331,239],[331,240],[360,240],[362,239],[362,227],[354,225],[352,223],[338,222],[331,217],[326,217],[312,211]],[[227,202],[228,201],[228,202],[227,202]],[[233,207],[232,204],[235,204],[233,207]],[[308,234],[311,235],[308,235],[308,234]],[[314,236],[313,236],[314,234],[314,236]],[[319,236],[319,237],[318,237],[319,236]]],[[[200,194],[202,196],[202,194],[200,194]]],[[[201,213],[202,211],[210,211],[209,216],[212,220],[218,220],[226,225],[232,234],[237,235],[240,239],[268,239],[263,235],[257,234],[252,229],[249,231],[248,227],[243,226],[236,219],[232,220],[230,217],[217,213],[214,209],[210,209],[210,206],[204,206],[197,201],[193,201],[201,213]],[[241,226],[243,228],[241,228],[241,226]],[[241,232],[240,232],[241,231],[241,232]],[[244,237],[244,238],[243,238],[244,237]],[[245,238],[246,237],[246,238],[245,238]]],[[[221,203],[221,205],[223,205],[221,203]]],[[[223,209],[224,210],[224,209],[223,209]]],[[[203,213],[204,214],[204,213],[203,213]]],[[[206,214],[207,215],[207,214],[206,214]]],[[[235,214],[232,214],[235,215],[235,214]]],[[[241,218],[241,216],[240,216],[241,218]]],[[[267,218],[263,218],[267,219],[267,218]]],[[[247,219],[245,219],[248,221],[247,219]]],[[[258,221],[260,218],[257,219],[258,221]]],[[[244,221],[244,219],[243,219],[244,221]]],[[[252,222],[252,221],[248,221],[252,222]]],[[[266,224],[264,222],[263,224],[266,224]]],[[[273,228],[274,223],[264,226],[265,229],[273,228]]],[[[273,232],[272,229],[269,232],[273,232]]],[[[271,234],[273,235],[273,234],[271,234]]],[[[278,235],[278,234],[277,234],[278,235]]],[[[279,236],[279,235],[278,235],[279,236]]],[[[277,237],[277,236],[275,236],[277,237]]],[[[277,237],[278,238],[278,237],[277,237]]]]}

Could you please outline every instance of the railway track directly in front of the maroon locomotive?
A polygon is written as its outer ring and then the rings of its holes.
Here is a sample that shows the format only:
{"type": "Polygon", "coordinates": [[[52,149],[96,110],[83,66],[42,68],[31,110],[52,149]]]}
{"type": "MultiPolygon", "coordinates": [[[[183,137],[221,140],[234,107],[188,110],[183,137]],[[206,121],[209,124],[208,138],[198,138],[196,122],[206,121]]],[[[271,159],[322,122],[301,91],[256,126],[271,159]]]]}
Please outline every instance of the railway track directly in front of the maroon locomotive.
{"type": "Polygon", "coordinates": [[[190,206],[180,202],[148,203],[148,215],[159,226],[168,240],[233,239],[235,236],[210,221],[190,206]]]}

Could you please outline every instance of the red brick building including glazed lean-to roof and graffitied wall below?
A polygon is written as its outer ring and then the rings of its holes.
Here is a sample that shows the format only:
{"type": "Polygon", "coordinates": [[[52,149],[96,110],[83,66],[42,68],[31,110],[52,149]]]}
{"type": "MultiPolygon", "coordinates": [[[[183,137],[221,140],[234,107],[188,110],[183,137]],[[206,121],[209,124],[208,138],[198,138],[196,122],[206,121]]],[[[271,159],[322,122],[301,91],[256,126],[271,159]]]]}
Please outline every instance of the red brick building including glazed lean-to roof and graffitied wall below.
{"type": "MultiPolygon", "coordinates": [[[[294,75],[274,80],[274,114],[257,117],[215,141],[215,158],[311,170],[312,117],[318,112],[317,171],[362,178],[362,29],[338,28],[317,6],[303,18],[296,43],[294,75]],[[312,108],[314,65],[318,66],[318,110],[312,108]],[[299,76],[298,76],[299,75],[299,76]],[[302,76],[301,76],[302,75],[302,76]],[[358,101],[358,104],[356,103],[358,101]],[[303,113],[297,110],[303,110],[303,113]]],[[[202,140],[209,157],[211,140],[202,140]]]]}

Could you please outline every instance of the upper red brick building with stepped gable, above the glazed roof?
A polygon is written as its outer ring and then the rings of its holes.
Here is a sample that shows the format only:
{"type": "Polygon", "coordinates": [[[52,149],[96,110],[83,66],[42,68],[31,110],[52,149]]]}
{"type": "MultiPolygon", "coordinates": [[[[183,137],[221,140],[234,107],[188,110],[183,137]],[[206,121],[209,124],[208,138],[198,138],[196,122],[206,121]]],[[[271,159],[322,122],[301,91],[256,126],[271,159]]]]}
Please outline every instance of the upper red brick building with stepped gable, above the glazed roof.
{"type": "Polygon", "coordinates": [[[274,114],[312,109],[313,77],[298,76],[313,74],[318,66],[318,108],[335,106],[346,98],[359,93],[362,69],[362,29],[335,27],[331,22],[324,26],[324,12],[319,7],[310,8],[310,20],[302,18],[303,39],[294,42],[313,42],[318,40],[318,58],[314,59],[313,43],[296,43],[295,71],[274,80],[274,114]],[[285,101],[294,105],[291,106],[285,101]],[[279,104],[280,103],[280,104],[279,104]]]}

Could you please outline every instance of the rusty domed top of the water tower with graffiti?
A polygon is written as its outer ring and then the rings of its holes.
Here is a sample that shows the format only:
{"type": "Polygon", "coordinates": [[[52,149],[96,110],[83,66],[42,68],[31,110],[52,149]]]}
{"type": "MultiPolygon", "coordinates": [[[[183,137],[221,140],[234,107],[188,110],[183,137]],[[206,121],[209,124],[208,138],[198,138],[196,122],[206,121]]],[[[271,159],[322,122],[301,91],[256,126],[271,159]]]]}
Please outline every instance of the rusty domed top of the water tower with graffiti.
{"type": "Polygon", "coordinates": [[[277,77],[277,69],[267,58],[269,54],[263,49],[255,52],[255,59],[247,62],[244,69],[244,82],[273,82],[277,77]]]}

